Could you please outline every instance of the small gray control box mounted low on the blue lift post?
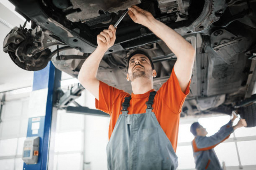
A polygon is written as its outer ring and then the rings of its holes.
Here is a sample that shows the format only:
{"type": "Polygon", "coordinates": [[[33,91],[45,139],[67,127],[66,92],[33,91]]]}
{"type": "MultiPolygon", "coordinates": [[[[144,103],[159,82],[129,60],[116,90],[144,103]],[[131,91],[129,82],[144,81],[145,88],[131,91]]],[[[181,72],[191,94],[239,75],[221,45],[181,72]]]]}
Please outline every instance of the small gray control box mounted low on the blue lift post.
{"type": "Polygon", "coordinates": [[[22,160],[26,164],[37,164],[40,137],[28,137],[24,141],[22,160]]]}

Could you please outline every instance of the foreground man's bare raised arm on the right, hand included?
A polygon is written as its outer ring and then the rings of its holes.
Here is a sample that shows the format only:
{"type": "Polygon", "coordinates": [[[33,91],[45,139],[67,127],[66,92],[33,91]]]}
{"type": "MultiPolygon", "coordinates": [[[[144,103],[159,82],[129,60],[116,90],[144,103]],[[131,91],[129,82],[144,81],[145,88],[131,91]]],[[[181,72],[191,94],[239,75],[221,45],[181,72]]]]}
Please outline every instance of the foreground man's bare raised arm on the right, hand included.
{"type": "Polygon", "coordinates": [[[173,29],[156,20],[150,12],[142,10],[134,5],[129,8],[128,14],[134,22],[148,27],[156,36],[163,40],[170,50],[177,56],[174,71],[178,78],[181,90],[185,92],[191,79],[195,49],[173,29]]]}

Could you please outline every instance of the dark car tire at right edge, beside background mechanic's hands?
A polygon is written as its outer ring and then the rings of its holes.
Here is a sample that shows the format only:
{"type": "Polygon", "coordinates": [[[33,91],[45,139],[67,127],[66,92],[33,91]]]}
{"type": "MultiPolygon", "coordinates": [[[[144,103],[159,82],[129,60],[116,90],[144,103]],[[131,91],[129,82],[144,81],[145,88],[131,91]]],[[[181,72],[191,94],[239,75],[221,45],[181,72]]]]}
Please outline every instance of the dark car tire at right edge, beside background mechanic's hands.
{"type": "Polygon", "coordinates": [[[241,107],[239,114],[241,118],[246,120],[248,128],[256,126],[256,103],[241,107]]]}

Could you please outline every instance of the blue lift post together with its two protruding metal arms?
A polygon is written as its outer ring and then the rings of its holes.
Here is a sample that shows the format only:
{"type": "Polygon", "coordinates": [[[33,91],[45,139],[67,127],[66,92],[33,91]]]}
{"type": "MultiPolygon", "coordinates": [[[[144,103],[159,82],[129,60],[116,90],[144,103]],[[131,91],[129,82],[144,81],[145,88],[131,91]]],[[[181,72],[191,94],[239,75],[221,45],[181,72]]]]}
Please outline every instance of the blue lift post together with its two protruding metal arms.
{"type": "Polygon", "coordinates": [[[30,107],[31,103],[34,105],[29,108],[27,137],[40,137],[39,154],[37,164],[27,165],[24,163],[23,170],[47,170],[48,168],[53,168],[57,109],[65,109],[67,113],[109,116],[100,110],[83,107],[76,103],[75,99],[80,97],[81,92],[84,90],[82,85],[73,86],[64,93],[60,89],[60,82],[61,71],[56,69],[52,62],[49,62],[44,69],[34,72],[33,90],[30,95],[31,102],[29,101],[30,107]],[[70,106],[71,103],[77,106],[72,107],[70,106]],[[34,123],[39,124],[39,126],[35,128],[33,126],[34,123]]]}

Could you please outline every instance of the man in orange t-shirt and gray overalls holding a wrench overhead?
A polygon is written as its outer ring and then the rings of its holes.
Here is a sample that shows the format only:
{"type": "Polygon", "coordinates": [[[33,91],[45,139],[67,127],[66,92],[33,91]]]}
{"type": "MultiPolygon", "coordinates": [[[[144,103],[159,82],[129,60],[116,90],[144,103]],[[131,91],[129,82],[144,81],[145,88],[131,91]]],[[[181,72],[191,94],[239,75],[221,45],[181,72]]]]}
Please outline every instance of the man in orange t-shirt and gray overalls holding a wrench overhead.
{"type": "Polygon", "coordinates": [[[142,51],[128,57],[132,95],[96,79],[99,63],[116,39],[112,25],[97,36],[98,47],[84,62],[78,79],[95,96],[96,108],[110,115],[108,169],[176,169],[179,117],[189,93],[195,50],[151,13],[134,5],[128,15],[148,27],[177,56],[167,82],[154,91],[156,70],[142,51]]]}

